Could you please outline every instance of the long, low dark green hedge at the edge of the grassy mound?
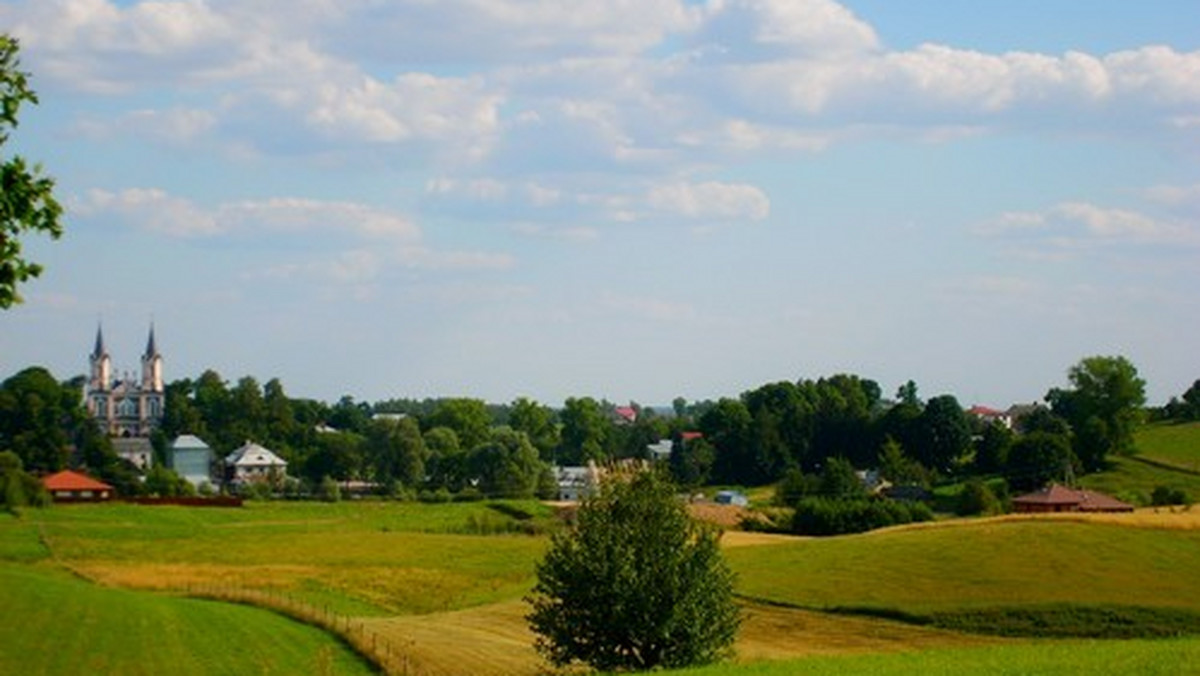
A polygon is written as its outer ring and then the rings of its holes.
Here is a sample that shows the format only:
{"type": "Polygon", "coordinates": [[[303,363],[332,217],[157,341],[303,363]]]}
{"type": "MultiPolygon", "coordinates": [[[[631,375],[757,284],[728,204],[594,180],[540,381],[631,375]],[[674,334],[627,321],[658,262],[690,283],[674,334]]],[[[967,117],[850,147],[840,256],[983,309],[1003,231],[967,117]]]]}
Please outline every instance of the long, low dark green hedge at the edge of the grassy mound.
{"type": "Polygon", "coordinates": [[[922,502],[806,497],[796,505],[792,532],[802,536],[842,536],[929,521],[932,518],[934,513],[922,502]]]}

